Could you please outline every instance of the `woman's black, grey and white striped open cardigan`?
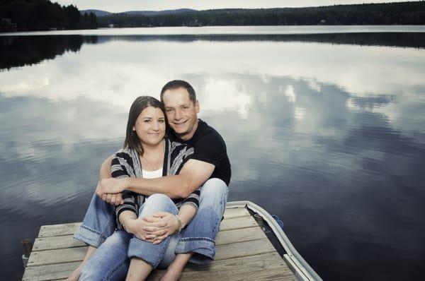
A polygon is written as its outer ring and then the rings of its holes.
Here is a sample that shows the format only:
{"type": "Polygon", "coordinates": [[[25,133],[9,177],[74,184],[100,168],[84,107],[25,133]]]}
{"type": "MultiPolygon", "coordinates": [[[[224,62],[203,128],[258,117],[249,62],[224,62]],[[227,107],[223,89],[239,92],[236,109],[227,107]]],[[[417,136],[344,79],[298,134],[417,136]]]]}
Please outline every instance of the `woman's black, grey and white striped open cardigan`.
{"type": "MultiPolygon", "coordinates": [[[[162,167],[162,176],[171,176],[179,174],[184,163],[188,161],[194,153],[193,148],[186,144],[177,143],[164,139],[165,151],[164,151],[164,164],[162,167]]],[[[131,148],[123,148],[118,150],[113,157],[111,163],[111,174],[114,178],[125,178],[125,177],[143,177],[142,165],[140,163],[139,153],[131,148]]],[[[176,186],[178,189],[179,186],[176,186]]],[[[176,198],[173,199],[177,208],[182,205],[192,205],[198,210],[199,205],[200,189],[197,189],[187,198],[176,198]]],[[[145,202],[145,198],[148,196],[137,194],[132,191],[123,192],[123,205],[115,207],[115,214],[117,217],[118,229],[123,229],[118,218],[120,214],[125,210],[130,210],[136,215],[139,213],[140,206],[145,202]]]]}

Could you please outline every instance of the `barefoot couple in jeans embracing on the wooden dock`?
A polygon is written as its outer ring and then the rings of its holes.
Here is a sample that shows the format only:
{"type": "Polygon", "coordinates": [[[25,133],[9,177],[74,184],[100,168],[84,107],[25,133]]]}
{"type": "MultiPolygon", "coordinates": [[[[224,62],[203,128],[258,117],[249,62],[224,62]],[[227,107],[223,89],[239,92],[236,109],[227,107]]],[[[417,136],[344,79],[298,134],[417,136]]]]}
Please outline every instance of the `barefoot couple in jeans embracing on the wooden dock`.
{"type": "Polygon", "coordinates": [[[214,259],[231,176],[226,145],[198,119],[187,82],[166,83],[161,100],[133,102],[124,148],[103,162],[74,234],[89,249],[68,280],[145,280],[155,268],[178,280],[188,261],[214,259]]]}

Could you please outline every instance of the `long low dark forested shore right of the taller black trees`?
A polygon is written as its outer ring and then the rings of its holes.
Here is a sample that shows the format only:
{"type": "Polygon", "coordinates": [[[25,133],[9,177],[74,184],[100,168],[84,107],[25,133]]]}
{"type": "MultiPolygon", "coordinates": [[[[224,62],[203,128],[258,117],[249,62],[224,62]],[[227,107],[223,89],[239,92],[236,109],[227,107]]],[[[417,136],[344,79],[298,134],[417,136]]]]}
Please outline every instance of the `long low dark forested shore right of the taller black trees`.
{"type": "Polygon", "coordinates": [[[387,4],[334,5],[309,8],[217,9],[135,15],[113,13],[98,17],[100,27],[181,25],[424,25],[425,1],[387,4]]]}

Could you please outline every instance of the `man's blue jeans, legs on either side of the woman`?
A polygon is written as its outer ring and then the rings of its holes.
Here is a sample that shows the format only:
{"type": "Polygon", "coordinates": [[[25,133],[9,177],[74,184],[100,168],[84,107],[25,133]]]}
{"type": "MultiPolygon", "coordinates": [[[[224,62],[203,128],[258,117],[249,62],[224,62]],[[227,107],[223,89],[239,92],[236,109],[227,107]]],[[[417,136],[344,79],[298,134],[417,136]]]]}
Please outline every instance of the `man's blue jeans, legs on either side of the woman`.
{"type": "MultiPolygon", "coordinates": [[[[193,263],[205,263],[214,259],[215,236],[226,208],[227,191],[227,186],[221,179],[209,179],[205,182],[200,191],[200,205],[195,217],[182,230],[179,237],[173,236],[175,241],[169,242],[169,248],[173,244],[175,249],[167,249],[167,252],[188,253],[192,251],[191,262],[193,263]]],[[[116,217],[113,206],[94,194],[84,221],[74,234],[74,238],[100,249],[101,244],[114,234],[115,228],[116,217]]],[[[117,241],[132,239],[127,232],[117,230],[115,233],[118,233],[114,237],[117,241]]],[[[173,260],[174,258],[171,261],[173,260]]]]}

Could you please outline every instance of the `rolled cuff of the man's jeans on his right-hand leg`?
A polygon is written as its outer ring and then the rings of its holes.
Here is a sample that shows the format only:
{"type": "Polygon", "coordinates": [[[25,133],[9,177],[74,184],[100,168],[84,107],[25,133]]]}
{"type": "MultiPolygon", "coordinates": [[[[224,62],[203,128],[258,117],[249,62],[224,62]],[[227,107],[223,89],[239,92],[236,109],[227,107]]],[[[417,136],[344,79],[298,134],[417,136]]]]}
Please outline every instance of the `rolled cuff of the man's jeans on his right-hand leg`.
{"type": "Polygon", "coordinates": [[[177,244],[177,253],[193,252],[191,263],[210,263],[215,258],[215,240],[208,237],[182,238],[177,244]]]}

